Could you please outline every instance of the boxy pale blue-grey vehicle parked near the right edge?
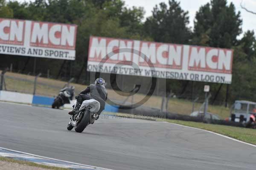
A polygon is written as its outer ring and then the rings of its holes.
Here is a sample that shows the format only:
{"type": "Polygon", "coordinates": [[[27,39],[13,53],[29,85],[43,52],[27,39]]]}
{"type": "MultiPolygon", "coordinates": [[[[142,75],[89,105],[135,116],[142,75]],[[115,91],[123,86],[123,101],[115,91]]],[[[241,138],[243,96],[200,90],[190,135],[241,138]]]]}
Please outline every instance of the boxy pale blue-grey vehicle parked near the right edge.
{"type": "Polygon", "coordinates": [[[256,103],[252,101],[235,101],[230,109],[230,120],[246,124],[250,121],[253,110],[256,109],[256,103]]]}

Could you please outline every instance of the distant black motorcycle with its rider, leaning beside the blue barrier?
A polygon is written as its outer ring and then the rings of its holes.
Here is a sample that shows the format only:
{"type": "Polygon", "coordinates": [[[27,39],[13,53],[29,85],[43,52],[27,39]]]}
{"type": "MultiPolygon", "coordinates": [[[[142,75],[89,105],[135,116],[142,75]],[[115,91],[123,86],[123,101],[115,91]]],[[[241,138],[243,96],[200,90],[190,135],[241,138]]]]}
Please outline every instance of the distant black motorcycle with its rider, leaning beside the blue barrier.
{"type": "Polygon", "coordinates": [[[53,109],[59,109],[59,107],[63,106],[64,104],[70,104],[70,101],[73,100],[75,94],[75,87],[65,87],[64,89],[61,89],[58,96],[55,97],[52,108],[53,109]]]}

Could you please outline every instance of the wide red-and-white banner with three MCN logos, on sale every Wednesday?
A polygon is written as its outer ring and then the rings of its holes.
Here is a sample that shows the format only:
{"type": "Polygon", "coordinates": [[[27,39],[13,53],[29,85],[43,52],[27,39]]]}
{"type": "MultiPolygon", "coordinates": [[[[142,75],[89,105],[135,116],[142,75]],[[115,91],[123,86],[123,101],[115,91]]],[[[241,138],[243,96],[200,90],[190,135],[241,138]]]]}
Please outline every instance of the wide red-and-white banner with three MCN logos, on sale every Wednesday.
{"type": "Polygon", "coordinates": [[[90,37],[87,71],[231,84],[232,49],[90,37]]]}

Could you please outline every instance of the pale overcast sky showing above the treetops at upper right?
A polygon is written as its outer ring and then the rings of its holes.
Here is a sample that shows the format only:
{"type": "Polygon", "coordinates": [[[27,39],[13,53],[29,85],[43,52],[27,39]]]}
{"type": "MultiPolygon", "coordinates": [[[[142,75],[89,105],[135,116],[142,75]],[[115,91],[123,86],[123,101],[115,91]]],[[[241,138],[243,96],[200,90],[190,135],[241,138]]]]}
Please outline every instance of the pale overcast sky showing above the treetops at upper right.
{"type": "MultiPolygon", "coordinates": [[[[148,17],[152,14],[153,7],[156,4],[159,4],[161,2],[165,2],[168,4],[168,0],[124,0],[126,6],[132,7],[132,6],[142,6],[145,10],[145,17],[148,17]]],[[[243,32],[246,32],[247,30],[254,30],[256,32],[256,15],[250,14],[246,12],[244,9],[241,9],[240,3],[242,2],[243,6],[245,6],[250,11],[256,12],[256,0],[227,0],[228,4],[233,2],[236,6],[236,11],[241,12],[241,18],[243,20],[242,29],[243,32]]],[[[195,14],[200,8],[200,6],[203,6],[204,4],[210,2],[210,0],[180,0],[180,6],[183,10],[189,12],[189,26],[193,28],[194,26],[194,19],[195,14]]],[[[242,35],[239,36],[241,38],[242,35]]]]}

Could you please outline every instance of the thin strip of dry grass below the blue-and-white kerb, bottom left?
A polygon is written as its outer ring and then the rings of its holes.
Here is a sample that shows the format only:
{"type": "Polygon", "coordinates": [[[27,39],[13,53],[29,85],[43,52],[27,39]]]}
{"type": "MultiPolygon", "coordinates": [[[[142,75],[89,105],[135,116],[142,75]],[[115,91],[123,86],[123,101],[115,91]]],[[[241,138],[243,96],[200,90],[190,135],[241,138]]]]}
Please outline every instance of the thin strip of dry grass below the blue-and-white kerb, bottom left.
{"type": "Polygon", "coordinates": [[[42,164],[36,164],[34,162],[29,162],[29,161],[20,161],[20,160],[15,160],[12,158],[6,158],[6,157],[0,157],[0,161],[6,161],[10,163],[17,163],[17,164],[22,164],[22,165],[27,165],[30,167],[41,167],[47,170],[70,170],[68,168],[61,168],[61,167],[52,167],[52,166],[47,166],[47,165],[42,165],[42,164]]]}

